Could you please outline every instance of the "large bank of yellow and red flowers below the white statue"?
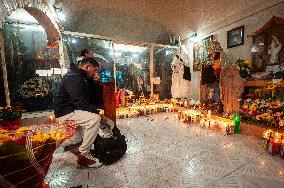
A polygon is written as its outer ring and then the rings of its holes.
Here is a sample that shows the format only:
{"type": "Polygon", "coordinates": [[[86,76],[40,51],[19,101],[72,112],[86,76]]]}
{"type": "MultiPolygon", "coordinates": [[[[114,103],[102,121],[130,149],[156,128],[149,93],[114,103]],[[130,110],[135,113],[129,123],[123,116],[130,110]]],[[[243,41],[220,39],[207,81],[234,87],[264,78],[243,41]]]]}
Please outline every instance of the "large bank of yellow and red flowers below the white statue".
{"type": "Polygon", "coordinates": [[[250,90],[246,93],[242,100],[242,117],[251,122],[284,129],[284,102],[274,95],[277,87],[269,83],[264,90],[250,90]]]}

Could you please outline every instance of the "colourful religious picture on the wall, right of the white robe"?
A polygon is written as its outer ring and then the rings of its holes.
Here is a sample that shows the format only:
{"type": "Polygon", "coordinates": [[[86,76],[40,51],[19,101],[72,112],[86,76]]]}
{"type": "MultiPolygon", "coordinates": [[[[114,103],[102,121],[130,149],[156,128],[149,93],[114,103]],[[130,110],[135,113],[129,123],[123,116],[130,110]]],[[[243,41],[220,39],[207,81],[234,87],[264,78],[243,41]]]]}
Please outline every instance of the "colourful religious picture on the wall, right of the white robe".
{"type": "Polygon", "coordinates": [[[193,44],[193,71],[200,71],[208,56],[210,42],[213,41],[213,35],[202,39],[193,44]]]}

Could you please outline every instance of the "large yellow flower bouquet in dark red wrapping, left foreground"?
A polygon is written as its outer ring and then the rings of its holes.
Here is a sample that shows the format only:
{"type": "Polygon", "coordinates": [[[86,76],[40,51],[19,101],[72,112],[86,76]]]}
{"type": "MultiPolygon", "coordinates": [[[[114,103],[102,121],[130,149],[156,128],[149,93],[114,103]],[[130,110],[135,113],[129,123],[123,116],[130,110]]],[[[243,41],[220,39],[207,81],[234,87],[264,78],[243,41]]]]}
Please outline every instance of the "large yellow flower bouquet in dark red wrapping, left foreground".
{"type": "Polygon", "coordinates": [[[0,187],[42,187],[53,152],[74,130],[74,121],[0,129],[0,187]]]}

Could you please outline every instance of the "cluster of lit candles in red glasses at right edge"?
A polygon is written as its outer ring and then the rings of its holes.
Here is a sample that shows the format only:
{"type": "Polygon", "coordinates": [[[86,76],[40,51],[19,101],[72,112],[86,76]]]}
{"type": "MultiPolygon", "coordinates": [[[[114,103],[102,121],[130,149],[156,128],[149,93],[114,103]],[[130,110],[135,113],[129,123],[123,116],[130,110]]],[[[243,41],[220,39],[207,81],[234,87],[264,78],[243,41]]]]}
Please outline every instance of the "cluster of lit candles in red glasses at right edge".
{"type": "Polygon", "coordinates": [[[272,155],[280,154],[284,158],[284,133],[267,130],[263,133],[263,144],[272,155]]]}

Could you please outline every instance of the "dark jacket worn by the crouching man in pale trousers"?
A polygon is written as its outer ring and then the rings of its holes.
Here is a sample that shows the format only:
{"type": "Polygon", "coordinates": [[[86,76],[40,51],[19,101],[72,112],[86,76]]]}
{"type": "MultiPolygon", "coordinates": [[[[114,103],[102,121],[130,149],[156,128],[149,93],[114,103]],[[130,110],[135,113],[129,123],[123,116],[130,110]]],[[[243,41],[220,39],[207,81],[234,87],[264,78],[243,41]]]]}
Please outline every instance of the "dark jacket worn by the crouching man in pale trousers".
{"type": "Polygon", "coordinates": [[[61,86],[54,101],[55,117],[67,115],[75,110],[98,113],[96,106],[91,105],[90,82],[85,71],[71,67],[62,79],[61,86]]]}

